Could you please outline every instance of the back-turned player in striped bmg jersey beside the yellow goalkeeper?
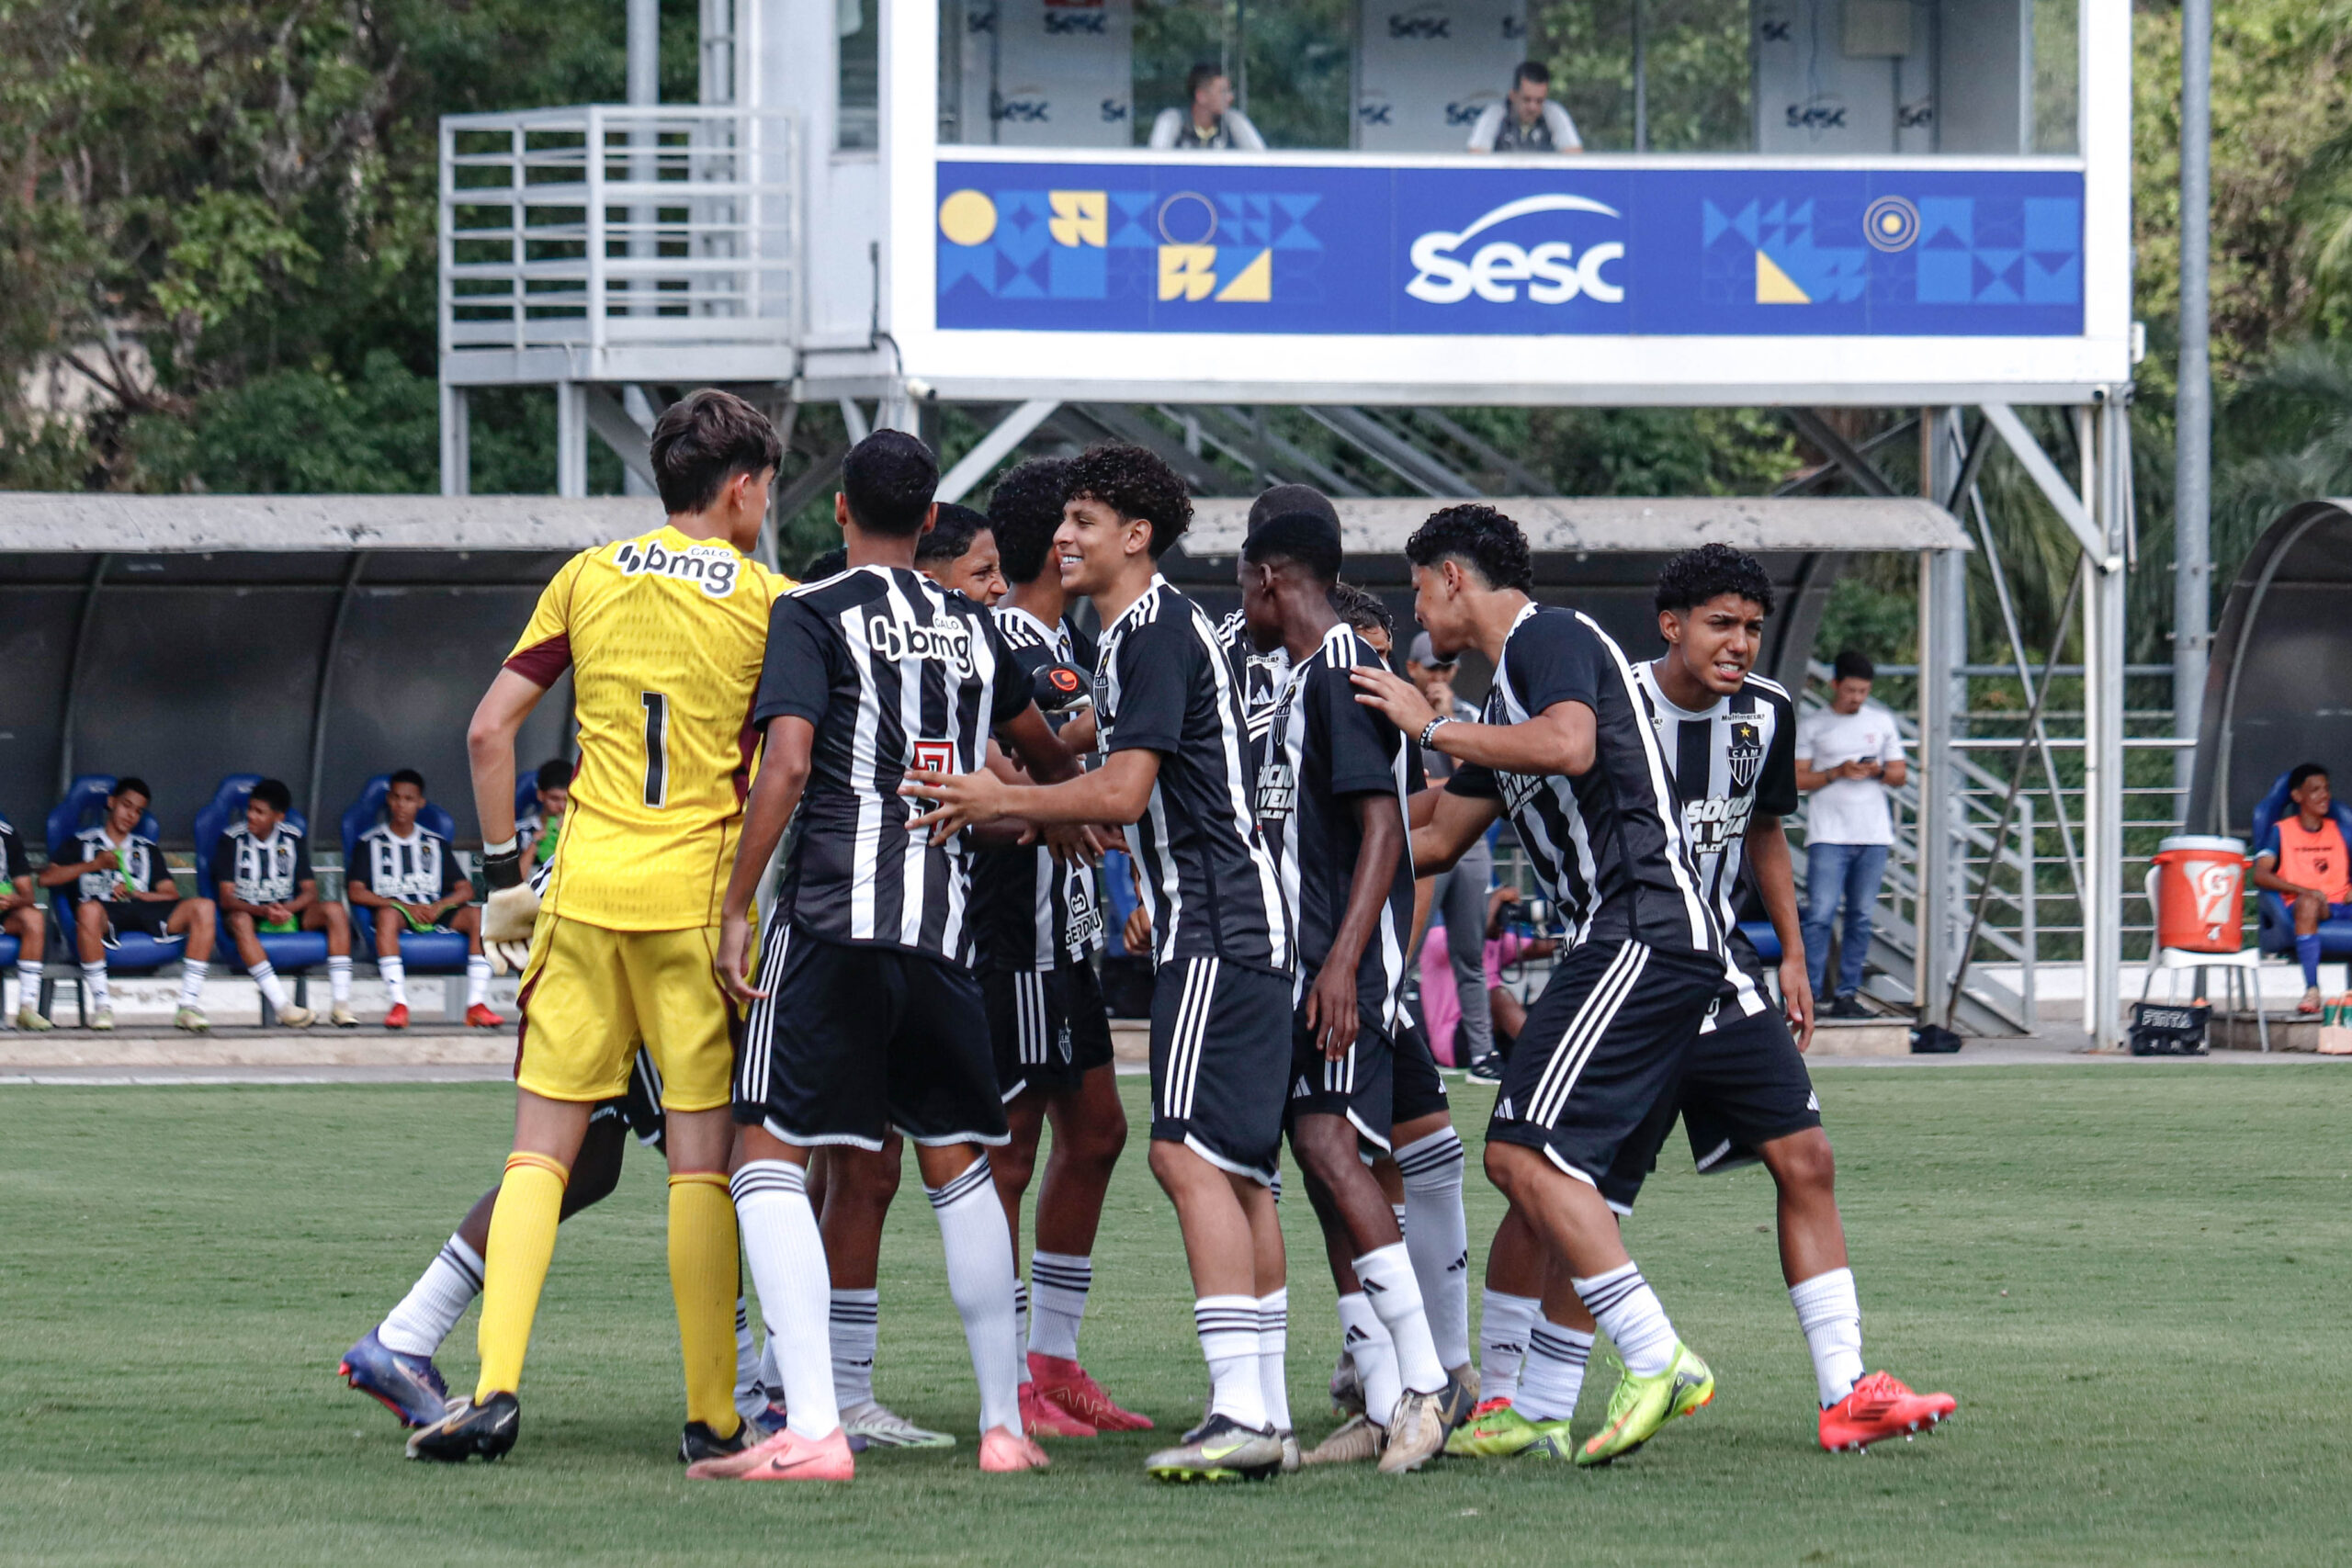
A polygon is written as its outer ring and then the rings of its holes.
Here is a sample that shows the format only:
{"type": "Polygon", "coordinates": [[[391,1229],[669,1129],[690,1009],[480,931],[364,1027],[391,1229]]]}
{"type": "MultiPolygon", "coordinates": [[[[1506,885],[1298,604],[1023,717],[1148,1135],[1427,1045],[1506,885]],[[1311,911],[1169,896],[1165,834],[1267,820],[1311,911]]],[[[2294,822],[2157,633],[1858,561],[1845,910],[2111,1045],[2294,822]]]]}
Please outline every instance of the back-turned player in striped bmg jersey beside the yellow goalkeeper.
{"type": "MultiPolygon", "coordinates": [[[[1042,1469],[1021,1429],[1014,1248],[988,1168],[1004,1100],[971,964],[969,844],[910,832],[908,769],[978,769],[988,736],[1030,773],[1077,764],[1030,701],[988,611],[915,571],[938,465],[901,430],[842,458],[833,510],[849,569],[776,599],[753,705],[760,778],[727,882],[717,978],[750,1001],[736,1070],[743,1255],[779,1342],[788,1425],[687,1474],[847,1481],[856,1474],[828,1356],[830,1269],[807,1197],[818,1147],[915,1140],[948,1293],[981,1385],[981,1469],[1042,1469]],[[793,813],[783,891],[750,983],[750,903],[793,813]]],[[[835,1180],[840,1173],[835,1173],[835,1180]]]]}

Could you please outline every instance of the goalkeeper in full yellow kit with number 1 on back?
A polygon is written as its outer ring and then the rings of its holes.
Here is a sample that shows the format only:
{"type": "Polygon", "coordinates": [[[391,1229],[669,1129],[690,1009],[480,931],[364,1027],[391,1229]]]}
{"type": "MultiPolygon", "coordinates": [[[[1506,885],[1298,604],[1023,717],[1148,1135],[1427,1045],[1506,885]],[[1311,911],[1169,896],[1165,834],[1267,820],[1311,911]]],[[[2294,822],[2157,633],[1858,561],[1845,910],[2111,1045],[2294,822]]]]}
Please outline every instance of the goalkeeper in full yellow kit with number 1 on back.
{"type": "Polygon", "coordinates": [[[701,390],[654,421],[668,522],[574,555],[466,733],[482,875],[522,879],[515,733],[572,670],[581,764],[557,875],[532,931],[515,1053],[515,1152],[482,1253],[473,1399],[409,1436],[433,1460],[515,1446],[515,1389],[588,1121],[628,1088],[642,1037],[661,1072],[670,1293],[689,1453],[750,1441],[734,1408],[739,1258],[727,1201],[731,1013],[710,973],[717,891],[743,823],[750,712],[779,578],[750,559],[781,447],[741,397],[701,390]]]}

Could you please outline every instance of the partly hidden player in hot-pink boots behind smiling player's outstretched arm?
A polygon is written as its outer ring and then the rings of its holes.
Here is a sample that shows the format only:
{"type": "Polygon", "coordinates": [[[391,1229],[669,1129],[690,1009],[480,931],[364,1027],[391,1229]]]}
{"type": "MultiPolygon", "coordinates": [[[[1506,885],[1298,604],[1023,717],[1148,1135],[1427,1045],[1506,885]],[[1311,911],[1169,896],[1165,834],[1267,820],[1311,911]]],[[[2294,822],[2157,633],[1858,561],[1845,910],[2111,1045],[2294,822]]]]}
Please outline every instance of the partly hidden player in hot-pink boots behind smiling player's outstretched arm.
{"type": "MultiPolygon", "coordinates": [[[[1087,670],[1094,642],[1070,625],[1070,595],[1049,569],[1070,465],[1033,458],[997,482],[988,522],[1011,590],[995,607],[997,630],[1030,679],[1063,665],[1087,670]]],[[[941,508],[946,512],[946,508],[941,508]]],[[[1063,745],[1094,741],[1094,715],[1058,726],[1063,745]]],[[[1021,1201],[1037,1166],[1037,1143],[1054,1126],[1037,1192],[1037,1248],[1014,1293],[1028,1338],[1021,1415],[1030,1432],[1091,1436],[1141,1432],[1148,1415],[1122,1410],[1077,1361],[1077,1331],[1094,1288],[1094,1232],[1103,1194],[1127,1147],[1127,1107],[1110,1065],[1110,1013],[1091,954],[1103,945],[1103,910],[1084,863],[1056,863],[1042,846],[981,849],[971,863],[971,924],[978,931],[981,992],[997,1051],[997,1088],[1011,1143],[988,1157],[1021,1253],[1021,1201]]]]}

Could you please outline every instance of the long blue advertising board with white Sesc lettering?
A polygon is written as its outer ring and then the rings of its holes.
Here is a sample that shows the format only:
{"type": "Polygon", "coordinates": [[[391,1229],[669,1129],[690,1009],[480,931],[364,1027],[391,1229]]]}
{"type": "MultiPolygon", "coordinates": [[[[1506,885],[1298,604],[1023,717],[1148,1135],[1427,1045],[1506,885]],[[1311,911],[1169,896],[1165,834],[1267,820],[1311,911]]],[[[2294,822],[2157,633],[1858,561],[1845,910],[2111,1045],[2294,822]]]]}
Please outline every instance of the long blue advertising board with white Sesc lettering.
{"type": "Polygon", "coordinates": [[[938,327],[2082,336],[2070,169],[941,158],[938,327]]]}

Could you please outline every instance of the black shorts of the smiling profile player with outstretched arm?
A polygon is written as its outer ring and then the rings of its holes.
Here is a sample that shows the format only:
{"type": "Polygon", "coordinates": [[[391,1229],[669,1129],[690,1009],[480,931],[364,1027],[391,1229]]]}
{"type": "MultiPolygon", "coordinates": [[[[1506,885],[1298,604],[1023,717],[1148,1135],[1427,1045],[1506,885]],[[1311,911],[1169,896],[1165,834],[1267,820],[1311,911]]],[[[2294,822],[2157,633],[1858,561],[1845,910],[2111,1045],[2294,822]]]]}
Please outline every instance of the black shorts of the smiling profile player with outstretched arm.
{"type": "Polygon", "coordinates": [[[1268,1187],[1282,1157],[1291,978],[1171,959],[1152,978],[1152,1140],[1268,1187]]]}

